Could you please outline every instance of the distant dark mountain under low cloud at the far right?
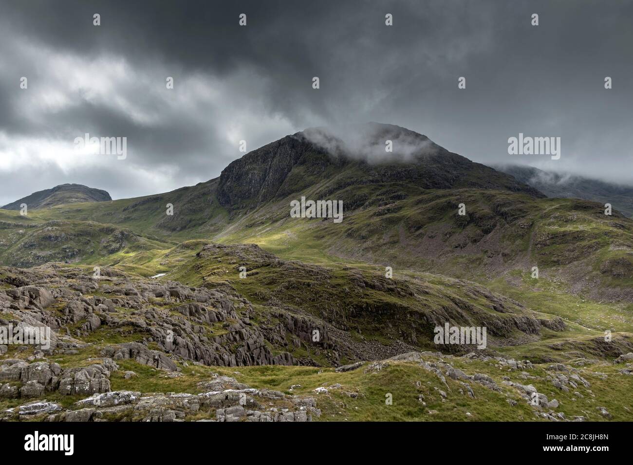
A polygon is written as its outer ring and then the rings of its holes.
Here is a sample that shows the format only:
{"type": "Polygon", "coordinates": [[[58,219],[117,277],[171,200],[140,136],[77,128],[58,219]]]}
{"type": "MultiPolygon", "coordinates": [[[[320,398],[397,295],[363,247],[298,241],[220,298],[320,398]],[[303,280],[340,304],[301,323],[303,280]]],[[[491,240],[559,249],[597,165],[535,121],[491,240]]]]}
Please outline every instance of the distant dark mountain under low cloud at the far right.
{"type": "Polygon", "coordinates": [[[508,173],[548,197],[585,199],[610,203],[614,209],[633,218],[633,187],[575,175],[541,171],[532,166],[518,164],[495,165],[494,168],[508,173]]]}

